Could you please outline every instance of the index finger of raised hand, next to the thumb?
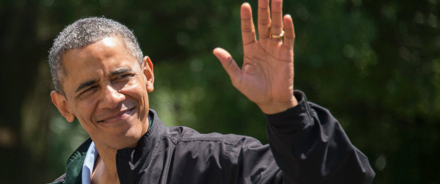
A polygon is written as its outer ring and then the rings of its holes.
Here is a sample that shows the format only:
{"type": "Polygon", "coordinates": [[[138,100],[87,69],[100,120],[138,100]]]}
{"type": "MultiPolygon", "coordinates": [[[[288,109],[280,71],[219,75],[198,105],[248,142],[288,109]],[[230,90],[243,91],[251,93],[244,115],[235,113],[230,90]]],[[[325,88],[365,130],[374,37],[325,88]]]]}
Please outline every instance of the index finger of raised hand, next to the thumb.
{"type": "Polygon", "coordinates": [[[242,17],[243,46],[245,46],[257,40],[255,38],[255,27],[252,22],[252,10],[249,3],[245,2],[242,4],[240,16],[242,17]]]}

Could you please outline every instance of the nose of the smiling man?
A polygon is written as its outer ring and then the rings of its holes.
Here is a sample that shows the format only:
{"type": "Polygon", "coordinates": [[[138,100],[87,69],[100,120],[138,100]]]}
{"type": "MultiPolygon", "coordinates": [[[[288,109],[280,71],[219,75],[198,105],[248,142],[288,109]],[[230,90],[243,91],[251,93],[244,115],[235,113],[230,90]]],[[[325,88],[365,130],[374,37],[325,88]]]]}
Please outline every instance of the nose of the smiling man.
{"type": "Polygon", "coordinates": [[[103,93],[103,97],[99,103],[99,108],[101,109],[116,108],[122,101],[125,100],[125,95],[110,85],[105,87],[103,93]]]}

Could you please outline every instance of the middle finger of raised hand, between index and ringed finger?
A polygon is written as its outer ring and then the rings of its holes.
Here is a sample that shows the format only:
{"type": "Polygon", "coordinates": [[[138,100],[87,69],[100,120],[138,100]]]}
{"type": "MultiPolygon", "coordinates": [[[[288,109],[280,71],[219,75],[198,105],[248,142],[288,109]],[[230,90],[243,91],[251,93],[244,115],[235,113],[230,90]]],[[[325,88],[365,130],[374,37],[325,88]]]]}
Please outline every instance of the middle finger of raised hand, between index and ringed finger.
{"type": "Polygon", "coordinates": [[[258,36],[260,39],[270,35],[269,0],[258,1],[258,36]]]}

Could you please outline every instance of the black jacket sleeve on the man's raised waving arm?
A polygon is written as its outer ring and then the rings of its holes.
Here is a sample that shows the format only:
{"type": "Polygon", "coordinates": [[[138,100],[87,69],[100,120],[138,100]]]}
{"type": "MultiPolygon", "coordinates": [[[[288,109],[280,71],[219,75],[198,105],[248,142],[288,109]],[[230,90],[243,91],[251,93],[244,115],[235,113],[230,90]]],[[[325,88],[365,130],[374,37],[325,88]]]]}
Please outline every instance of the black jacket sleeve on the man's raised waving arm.
{"type": "Polygon", "coordinates": [[[285,184],[371,184],[367,157],[330,112],[295,91],[298,105],[265,115],[270,149],[285,184]]]}

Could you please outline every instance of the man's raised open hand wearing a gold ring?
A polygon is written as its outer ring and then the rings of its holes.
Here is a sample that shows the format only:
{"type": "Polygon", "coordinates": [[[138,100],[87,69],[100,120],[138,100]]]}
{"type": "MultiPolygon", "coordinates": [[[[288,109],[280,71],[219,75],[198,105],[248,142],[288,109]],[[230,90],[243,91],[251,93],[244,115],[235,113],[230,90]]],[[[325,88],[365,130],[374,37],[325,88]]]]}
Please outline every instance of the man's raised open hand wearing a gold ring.
{"type": "Polygon", "coordinates": [[[297,104],[293,96],[293,42],[295,33],[290,15],[282,14],[282,0],[258,1],[258,33],[248,3],[241,8],[243,66],[231,54],[215,48],[214,54],[231,78],[232,84],[265,114],[283,112],[297,104]],[[281,38],[284,33],[284,43],[281,38]]]}

